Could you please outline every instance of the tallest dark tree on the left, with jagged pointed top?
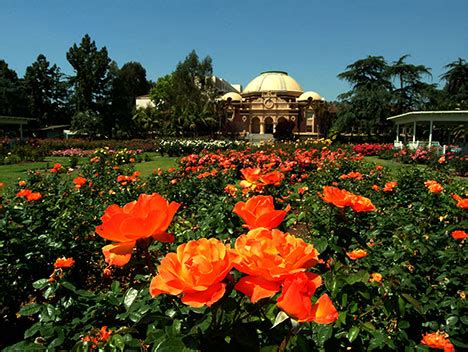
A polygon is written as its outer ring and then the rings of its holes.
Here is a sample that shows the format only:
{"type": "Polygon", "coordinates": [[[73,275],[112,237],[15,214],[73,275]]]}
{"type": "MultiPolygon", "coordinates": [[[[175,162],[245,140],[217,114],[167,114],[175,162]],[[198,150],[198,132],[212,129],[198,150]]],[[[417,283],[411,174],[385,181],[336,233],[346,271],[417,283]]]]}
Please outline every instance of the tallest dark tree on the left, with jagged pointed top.
{"type": "Polygon", "coordinates": [[[109,104],[111,60],[106,47],[97,49],[96,43],[86,34],[80,46],[73,44],[67,52],[67,60],[75,70],[70,77],[74,88],[73,103],[77,112],[99,111],[109,104]]]}

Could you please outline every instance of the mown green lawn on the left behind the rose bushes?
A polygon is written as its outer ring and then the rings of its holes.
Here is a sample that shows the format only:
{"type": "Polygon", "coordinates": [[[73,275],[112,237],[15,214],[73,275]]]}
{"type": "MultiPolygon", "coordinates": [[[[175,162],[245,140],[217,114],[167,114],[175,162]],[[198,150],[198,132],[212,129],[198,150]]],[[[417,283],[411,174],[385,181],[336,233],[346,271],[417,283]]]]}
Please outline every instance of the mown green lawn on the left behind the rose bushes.
{"type": "MultiPolygon", "coordinates": [[[[156,153],[147,153],[151,158],[150,161],[145,161],[135,165],[136,170],[141,172],[141,176],[150,175],[153,170],[157,168],[168,169],[176,166],[177,158],[174,157],[163,157],[156,153]]],[[[78,164],[84,162],[84,158],[80,159],[78,164]]],[[[26,162],[14,165],[0,165],[0,182],[4,182],[6,185],[16,183],[19,178],[22,178],[28,170],[46,170],[50,169],[54,163],[60,163],[64,167],[70,165],[68,157],[47,157],[44,161],[40,162],[26,162]]]]}

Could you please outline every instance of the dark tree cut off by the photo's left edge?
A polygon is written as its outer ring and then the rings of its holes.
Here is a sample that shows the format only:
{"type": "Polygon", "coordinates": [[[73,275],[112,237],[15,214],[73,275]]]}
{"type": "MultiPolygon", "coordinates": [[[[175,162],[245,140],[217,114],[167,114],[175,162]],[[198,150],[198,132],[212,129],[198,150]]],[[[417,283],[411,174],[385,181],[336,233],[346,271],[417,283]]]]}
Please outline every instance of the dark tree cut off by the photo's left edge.
{"type": "Polygon", "coordinates": [[[0,115],[28,116],[23,82],[4,60],[0,60],[0,115]]]}

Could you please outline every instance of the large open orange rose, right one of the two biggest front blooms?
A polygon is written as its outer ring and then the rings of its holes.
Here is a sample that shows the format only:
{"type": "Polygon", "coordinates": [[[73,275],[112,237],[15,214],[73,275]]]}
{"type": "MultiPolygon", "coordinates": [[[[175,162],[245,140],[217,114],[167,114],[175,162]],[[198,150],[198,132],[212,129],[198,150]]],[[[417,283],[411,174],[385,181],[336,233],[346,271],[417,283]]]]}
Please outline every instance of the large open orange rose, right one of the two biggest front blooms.
{"type": "Polygon", "coordinates": [[[273,296],[286,277],[318,263],[313,245],[279,230],[250,230],[237,238],[235,249],[234,267],[249,275],[241,278],[235,289],[252,302],[273,296]]]}

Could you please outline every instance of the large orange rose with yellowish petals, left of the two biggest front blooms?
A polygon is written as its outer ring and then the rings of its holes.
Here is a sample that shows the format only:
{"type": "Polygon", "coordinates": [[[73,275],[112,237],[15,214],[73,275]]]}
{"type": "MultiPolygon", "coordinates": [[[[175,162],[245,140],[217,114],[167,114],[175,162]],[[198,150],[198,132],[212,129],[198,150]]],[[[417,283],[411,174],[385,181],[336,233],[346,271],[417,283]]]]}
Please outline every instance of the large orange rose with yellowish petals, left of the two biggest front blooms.
{"type": "Polygon", "coordinates": [[[215,238],[184,243],[163,258],[150,293],[182,295],[182,302],[191,307],[210,307],[224,295],[222,281],[232,269],[233,256],[229,246],[215,238]]]}

